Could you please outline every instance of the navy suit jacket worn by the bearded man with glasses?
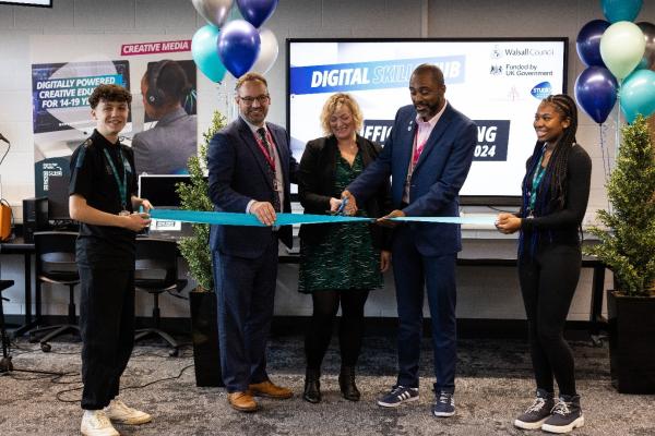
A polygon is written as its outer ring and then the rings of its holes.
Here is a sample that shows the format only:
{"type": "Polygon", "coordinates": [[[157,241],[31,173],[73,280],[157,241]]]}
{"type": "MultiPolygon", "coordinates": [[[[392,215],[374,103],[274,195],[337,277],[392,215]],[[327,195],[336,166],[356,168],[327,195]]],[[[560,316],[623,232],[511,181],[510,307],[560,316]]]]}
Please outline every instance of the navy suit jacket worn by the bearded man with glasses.
{"type": "MultiPolygon", "coordinates": [[[[283,211],[289,213],[289,183],[296,183],[297,162],[291,156],[286,130],[272,123],[266,123],[266,128],[282,165],[283,211]]],[[[216,133],[207,150],[209,189],[214,210],[242,214],[251,199],[273,203],[275,191],[267,166],[250,126],[240,117],[216,133]]],[[[272,231],[270,227],[212,226],[210,243],[214,251],[254,258],[263,254],[272,231]]],[[[278,237],[287,246],[293,245],[290,226],[283,226],[278,237]]]]}

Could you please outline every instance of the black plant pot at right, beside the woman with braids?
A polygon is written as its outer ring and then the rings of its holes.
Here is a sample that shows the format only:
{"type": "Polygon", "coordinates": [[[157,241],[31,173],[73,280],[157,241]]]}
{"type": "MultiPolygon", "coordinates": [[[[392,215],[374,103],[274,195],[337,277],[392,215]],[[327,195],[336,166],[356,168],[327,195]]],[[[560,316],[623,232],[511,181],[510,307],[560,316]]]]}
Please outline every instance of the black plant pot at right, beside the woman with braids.
{"type": "Polygon", "coordinates": [[[611,384],[621,393],[655,393],[655,298],[607,291],[611,384]]]}

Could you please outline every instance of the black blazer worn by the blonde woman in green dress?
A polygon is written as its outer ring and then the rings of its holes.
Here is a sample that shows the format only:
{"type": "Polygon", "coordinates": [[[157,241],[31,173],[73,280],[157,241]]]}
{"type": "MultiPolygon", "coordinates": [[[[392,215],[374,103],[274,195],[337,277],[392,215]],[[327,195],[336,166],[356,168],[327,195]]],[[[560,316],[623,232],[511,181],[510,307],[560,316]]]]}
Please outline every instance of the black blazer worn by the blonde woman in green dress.
{"type": "MultiPolygon", "coordinates": [[[[357,135],[356,142],[366,168],[376,160],[381,147],[359,135],[357,135]]],[[[330,210],[330,198],[334,196],[337,156],[338,144],[334,135],[307,143],[298,167],[298,196],[306,214],[325,215],[330,210]]],[[[390,199],[389,183],[383,183],[366,205],[361,206],[369,217],[378,218],[390,211],[390,199]]],[[[318,244],[327,234],[331,226],[340,225],[300,226],[300,238],[307,243],[318,244]]],[[[386,233],[382,227],[371,225],[373,244],[377,247],[388,249],[386,233]]]]}

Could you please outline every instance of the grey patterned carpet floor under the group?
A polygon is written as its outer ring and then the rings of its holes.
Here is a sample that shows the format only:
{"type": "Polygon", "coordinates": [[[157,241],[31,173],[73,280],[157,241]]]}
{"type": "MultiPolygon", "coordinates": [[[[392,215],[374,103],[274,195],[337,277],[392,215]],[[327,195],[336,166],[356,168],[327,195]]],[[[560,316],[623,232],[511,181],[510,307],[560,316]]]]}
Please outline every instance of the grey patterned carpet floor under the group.
{"type": "MultiPolygon", "coordinates": [[[[620,395],[611,387],[607,347],[575,341],[577,390],[586,424],[574,435],[655,435],[655,396],[620,395]]],[[[80,344],[52,342],[45,354],[24,339],[12,350],[15,370],[66,373],[37,375],[14,371],[0,375],[0,436],[76,435],[80,428],[80,344]]],[[[374,400],[394,383],[393,338],[367,337],[358,367],[359,402],[344,400],[338,391],[338,352],[333,341],[325,359],[323,401],[302,401],[302,340],[299,336],[273,338],[269,372],[290,387],[290,400],[261,400],[261,411],[235,412],[222,388],[195,386],[191,349],[170,358],[166,349],[138,346],[122,378],[121,397],[154,416],[141,426],[117,425],[121,435],[524,435],[541,434],[514,428],[512,422],[532,402],[534,383],[524,341],[464,339],[458,342],[457,413],[450,419],[430,415],[432,354],[422,344],[420,400],[396,409],[382,409],[374,400]],[[159,382],[157,382],[159,380],[159,382]]]]}

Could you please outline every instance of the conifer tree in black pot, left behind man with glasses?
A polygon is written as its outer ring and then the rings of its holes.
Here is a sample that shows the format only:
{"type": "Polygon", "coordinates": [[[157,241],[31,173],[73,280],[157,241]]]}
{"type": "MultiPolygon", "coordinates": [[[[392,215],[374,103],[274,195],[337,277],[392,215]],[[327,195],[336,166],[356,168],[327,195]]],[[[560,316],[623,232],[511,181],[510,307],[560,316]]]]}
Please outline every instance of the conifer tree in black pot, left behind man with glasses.
{"type": "MultiPolygon", "coordinates": [[[[180,183],[177,192],[184,210],[213,210],[205,178],[207,147],[212,136],[226,125],[225,117],[214,112],[210,129],[203,134],[204,143],[198,156],[189,158],[191,182],[180,183]]],[[[221,375],[216,293],[210,249],[210,225],[193,223],[193,234],[182,238],[178,244],[182,257],[189,265],[189,275],[198,283],[190,292],[191,339],[196,386],[225,386],[221,375]]]]}

